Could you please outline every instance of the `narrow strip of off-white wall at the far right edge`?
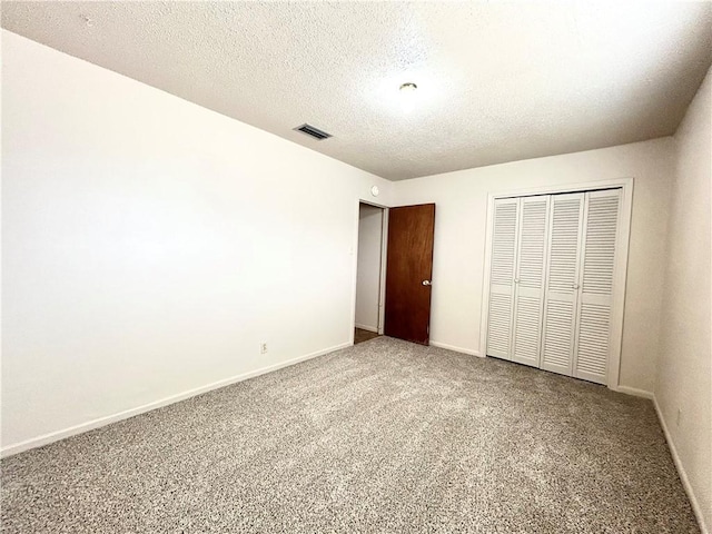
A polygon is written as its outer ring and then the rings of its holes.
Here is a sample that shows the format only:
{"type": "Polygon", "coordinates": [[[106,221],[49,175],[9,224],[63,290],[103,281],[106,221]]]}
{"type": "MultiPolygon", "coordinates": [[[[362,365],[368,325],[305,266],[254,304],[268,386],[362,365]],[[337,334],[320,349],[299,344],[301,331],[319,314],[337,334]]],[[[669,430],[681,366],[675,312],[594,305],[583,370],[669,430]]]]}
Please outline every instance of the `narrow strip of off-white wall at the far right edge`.
{"type": "Polygon", "coordinates": [[[712,71],[688,109],[674,141],[678,158],[655,400],[693,502],[696,501],[706,531],[712,532],[712,71]]]}

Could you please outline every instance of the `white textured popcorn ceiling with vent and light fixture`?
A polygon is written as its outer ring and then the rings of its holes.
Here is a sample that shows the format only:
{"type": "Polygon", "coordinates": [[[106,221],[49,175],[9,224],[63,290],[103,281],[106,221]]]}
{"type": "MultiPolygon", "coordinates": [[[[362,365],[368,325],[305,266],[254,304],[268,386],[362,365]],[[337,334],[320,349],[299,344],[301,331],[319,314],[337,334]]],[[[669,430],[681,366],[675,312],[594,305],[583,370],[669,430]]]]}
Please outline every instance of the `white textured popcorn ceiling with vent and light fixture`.
{"type": "Polygon", "coordinates": [[[31,1],[2,26],[394,180],[673,134],[712,62],[710,2],[31,1]]]}

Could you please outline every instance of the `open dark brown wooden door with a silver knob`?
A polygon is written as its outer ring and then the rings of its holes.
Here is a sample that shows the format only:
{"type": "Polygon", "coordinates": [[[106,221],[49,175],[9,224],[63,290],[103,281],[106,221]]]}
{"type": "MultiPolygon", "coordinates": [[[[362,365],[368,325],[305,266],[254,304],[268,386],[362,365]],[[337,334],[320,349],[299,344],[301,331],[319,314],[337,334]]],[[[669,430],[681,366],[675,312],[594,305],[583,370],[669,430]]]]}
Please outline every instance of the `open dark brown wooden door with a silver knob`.
{"type": "Polygon", "coordinates": [[[388,212],[386,336],[429,343],[434,231],[434,204],[390,208],[388,212]]]}

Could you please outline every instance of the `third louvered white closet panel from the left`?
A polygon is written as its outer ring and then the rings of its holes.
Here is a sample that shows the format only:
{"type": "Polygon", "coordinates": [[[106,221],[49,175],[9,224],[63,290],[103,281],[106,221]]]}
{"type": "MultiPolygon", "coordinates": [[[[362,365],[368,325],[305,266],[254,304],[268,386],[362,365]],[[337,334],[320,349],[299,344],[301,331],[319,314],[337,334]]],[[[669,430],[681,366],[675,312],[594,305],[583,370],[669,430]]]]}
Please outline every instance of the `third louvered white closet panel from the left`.
{"type": "Polygon", "coordinates": [[[541,368],[571,376],[584,194],[552,195],[541,368]]]}

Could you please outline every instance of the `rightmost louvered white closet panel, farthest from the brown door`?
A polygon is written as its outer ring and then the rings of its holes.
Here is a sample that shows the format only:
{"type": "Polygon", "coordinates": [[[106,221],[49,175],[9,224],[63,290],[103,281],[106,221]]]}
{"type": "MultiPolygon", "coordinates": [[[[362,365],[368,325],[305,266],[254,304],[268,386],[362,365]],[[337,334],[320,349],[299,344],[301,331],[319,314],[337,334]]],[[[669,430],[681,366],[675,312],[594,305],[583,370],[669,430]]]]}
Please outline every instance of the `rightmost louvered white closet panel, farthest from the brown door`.
{"type": "Polygon", "coordinates": [[[620,189],[586,192],[573,376],[606,384],[620,189]]]}

